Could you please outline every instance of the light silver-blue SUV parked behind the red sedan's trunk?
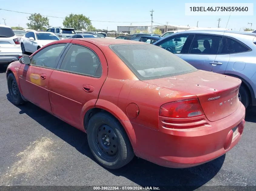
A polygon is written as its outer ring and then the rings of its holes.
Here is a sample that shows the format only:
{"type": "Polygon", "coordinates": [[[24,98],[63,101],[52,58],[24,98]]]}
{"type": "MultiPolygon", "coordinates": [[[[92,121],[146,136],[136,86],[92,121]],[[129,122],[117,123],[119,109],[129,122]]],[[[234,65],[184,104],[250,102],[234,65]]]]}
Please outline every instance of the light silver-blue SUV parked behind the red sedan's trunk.
{"type": "Polygon", "coordinates": [[[239,99],[245,107],[256,105],[256,33],[182,31],[153,44],[174,53],[198,69],[240,78],[239,99]]]}

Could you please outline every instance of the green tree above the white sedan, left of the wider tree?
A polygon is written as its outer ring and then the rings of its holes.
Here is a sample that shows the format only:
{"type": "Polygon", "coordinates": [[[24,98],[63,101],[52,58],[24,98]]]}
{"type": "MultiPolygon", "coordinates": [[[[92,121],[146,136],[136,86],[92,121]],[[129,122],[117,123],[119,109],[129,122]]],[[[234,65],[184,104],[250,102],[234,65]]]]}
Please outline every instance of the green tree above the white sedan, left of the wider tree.
{"type": "Polygon", "coordinates": [[[31,14],[28,17],[29,23],[27,23],[28,28],[34,30],[42,30],[49,27],[49,19],[47,17],[43,17],[40,13],[31,14]]]}

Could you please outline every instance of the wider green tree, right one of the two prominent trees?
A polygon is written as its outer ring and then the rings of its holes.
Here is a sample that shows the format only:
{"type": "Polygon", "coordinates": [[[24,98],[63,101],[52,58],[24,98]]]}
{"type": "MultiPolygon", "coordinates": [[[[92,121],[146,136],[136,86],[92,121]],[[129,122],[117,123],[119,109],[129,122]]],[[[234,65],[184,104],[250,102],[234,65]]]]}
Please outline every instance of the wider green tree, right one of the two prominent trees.
{"type": "Polygon", "coordinates": [[[91,24],[91,20],[83,14],[69,14],[63,20],[64,27],[71,27],[75,30],[86,29],[91,24]]]}

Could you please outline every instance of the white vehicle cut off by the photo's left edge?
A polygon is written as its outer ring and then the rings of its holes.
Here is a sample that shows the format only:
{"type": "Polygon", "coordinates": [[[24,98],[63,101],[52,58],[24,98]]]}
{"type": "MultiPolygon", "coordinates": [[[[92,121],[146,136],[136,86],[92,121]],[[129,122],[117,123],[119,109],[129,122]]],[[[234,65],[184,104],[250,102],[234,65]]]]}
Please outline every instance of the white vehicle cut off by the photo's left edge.
{"type": "Polygon", "coordinates": [[[20,40],[11,27],[0,24],[0,65],[18,61],[22,57],[20,40]]]}

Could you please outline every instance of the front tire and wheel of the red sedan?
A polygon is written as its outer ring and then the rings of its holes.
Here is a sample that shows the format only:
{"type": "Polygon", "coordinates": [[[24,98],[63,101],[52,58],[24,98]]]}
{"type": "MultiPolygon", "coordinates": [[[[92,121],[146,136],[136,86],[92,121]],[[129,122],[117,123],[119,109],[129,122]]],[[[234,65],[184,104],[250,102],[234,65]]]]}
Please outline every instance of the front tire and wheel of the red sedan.
{"type": "Polygon", "coordinates": [[[21,93],[19,91],[18,83],[12,73],[8,75],[7,85],[8,85],[8,91],[9,91],[9,94],[11,97],[11,102],[13,104],[22,105],[22,104],[26,103],[22,99],[21,93]]]}

